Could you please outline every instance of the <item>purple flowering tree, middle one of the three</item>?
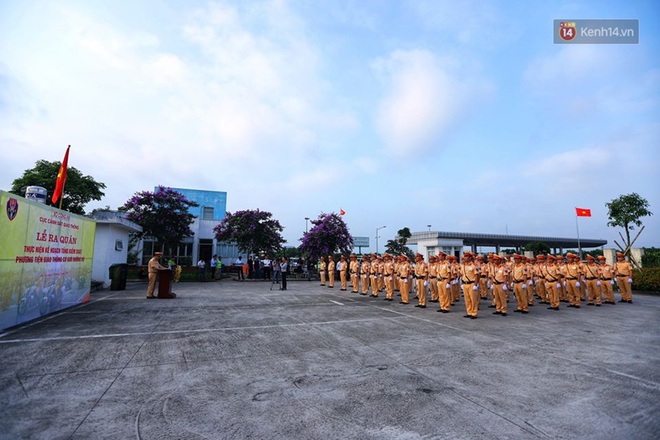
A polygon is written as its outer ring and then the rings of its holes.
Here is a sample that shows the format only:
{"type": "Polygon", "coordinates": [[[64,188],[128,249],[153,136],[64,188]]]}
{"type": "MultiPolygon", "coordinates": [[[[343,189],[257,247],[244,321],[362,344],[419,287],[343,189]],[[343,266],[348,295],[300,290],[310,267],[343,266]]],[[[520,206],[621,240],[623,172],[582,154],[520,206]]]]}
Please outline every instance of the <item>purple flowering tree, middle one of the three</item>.
{"type": "Polygon", "coordinates": [[[213,232],[219,241],[235,242],[242,252],[274,253],[285,240],[280,234],[284,228],[268,211],[251,210],[228,212],[213,232]]]}

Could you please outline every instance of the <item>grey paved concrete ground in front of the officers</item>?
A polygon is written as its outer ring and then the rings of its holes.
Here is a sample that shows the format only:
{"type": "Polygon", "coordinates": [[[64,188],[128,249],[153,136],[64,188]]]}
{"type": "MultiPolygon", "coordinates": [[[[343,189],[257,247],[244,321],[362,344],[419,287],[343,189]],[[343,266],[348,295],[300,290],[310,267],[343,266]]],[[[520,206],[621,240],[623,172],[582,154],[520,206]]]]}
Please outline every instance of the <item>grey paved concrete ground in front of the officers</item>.
{"type": "Polygon", "coordinates": [[[129,284],[6,331],[0,438],[660,438],[660,297],[470,320],[270,287],[129,284]]]}

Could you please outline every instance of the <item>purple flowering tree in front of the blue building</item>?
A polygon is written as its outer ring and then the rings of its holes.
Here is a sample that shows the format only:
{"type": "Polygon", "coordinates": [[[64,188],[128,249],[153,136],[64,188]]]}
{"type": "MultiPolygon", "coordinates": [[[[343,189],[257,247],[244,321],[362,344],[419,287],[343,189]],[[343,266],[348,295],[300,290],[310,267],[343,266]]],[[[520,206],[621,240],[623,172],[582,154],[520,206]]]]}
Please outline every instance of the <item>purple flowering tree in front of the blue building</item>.
{"type": "Polygon", "coordinates": [[[153,237],[171,249],[194,234],[190,225],[195,216],[189,208],[195,206],[199,205],[180,192],[159,186],[154,192],[135,193],[119,210],[126,212],[128,220],[142,226],[138,238],[153,237]]]}

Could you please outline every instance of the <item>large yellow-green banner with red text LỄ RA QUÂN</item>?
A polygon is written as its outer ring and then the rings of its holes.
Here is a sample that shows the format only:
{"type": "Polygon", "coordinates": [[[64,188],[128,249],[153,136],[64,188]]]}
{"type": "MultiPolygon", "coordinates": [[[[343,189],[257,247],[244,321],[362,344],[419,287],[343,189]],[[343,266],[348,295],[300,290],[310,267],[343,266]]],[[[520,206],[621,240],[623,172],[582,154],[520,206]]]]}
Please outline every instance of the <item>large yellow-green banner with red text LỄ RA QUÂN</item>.
{"type": "Polygon", "coordinates": [[[87,302],[96,222],[0,191],[0,330],[87,302]]]}

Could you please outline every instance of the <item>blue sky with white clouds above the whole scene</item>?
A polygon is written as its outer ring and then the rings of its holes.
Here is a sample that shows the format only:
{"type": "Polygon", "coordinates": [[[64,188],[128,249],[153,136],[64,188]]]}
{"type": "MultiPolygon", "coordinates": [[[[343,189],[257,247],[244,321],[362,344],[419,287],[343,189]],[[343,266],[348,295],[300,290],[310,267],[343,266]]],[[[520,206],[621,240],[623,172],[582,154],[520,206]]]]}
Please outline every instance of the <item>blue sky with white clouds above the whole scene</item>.
{"type": "MultiPolygon", "coordinates": [[[[656,1],[0,3],[0,188],[39,159],[107,185],[227,191],[297,245],[346,211],[396,231],[618,240],[646,198],[660,246],[656,1]],[[637,45],[555,45],[554,19],[640,20],[637,45]]],[[[381,247],[382,249],[382,247],[381,247]]]]}

